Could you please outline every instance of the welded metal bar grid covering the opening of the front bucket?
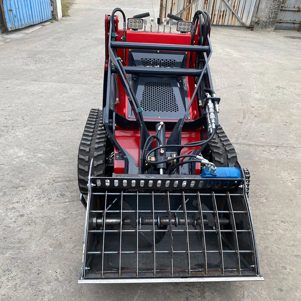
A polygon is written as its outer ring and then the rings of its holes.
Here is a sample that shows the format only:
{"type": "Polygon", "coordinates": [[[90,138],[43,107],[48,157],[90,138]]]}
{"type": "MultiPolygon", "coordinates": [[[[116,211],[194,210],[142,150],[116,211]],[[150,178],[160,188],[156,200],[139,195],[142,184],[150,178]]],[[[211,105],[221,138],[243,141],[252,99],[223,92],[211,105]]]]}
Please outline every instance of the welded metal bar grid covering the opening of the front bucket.
{"type": "Polygon", "coordinates": [[[256,275],[251,220],[241,194],[92,195],[104,208],[89,208],[93,242],[86,248],[86,278],[256,275]]]}

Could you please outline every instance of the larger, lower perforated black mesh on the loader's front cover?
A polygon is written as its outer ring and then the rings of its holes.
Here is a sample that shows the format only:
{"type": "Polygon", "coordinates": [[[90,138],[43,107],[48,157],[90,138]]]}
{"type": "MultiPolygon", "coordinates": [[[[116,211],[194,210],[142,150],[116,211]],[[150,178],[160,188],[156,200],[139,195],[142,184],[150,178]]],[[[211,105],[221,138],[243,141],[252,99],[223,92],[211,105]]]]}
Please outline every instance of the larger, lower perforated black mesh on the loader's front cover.
{"type": "Polygon", "coordinates": [[[170,82],[145,82],[141,107],[149,112],[178,112],[179,108],[170,82]]]}

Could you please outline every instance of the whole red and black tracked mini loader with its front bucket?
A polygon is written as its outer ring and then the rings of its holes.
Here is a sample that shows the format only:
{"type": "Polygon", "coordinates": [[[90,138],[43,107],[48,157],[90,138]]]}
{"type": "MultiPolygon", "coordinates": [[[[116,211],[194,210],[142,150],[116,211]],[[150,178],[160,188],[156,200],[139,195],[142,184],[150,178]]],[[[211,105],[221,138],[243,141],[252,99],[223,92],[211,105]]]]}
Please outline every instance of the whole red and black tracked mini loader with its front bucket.
{"type": "Polygon", "coordinates": [[[218,123],[209,14],[148,16],[105,17],[103,109],[78,154],[79,283],[263,280],[250,174],[218,123]]]}

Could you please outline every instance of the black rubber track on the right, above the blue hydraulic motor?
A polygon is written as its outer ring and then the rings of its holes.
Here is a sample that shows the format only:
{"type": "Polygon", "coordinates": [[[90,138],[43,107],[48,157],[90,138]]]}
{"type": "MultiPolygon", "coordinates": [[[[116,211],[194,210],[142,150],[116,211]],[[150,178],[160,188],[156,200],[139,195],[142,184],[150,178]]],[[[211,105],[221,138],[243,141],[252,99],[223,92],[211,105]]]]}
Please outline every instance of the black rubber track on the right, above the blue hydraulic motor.
{"type": "Polygon", "coordinates": [[[219,125],[216,135],[208,142],[211,152],[210,160],[218,167],[232,167],[237,160],[235,149],[225,134],[223,128],[219,125]]]}

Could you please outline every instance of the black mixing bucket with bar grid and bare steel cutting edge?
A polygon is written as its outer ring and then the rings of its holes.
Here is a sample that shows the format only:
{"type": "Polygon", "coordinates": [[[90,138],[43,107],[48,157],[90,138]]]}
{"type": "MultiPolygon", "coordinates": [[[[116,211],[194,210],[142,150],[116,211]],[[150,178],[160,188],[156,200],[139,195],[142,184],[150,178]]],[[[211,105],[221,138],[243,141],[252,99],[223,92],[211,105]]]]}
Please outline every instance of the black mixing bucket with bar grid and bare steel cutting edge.
{"type": "Polygon", "coordinates": [[[245,178],[91,175],[79,283],[263,280],[245,178]]]}

